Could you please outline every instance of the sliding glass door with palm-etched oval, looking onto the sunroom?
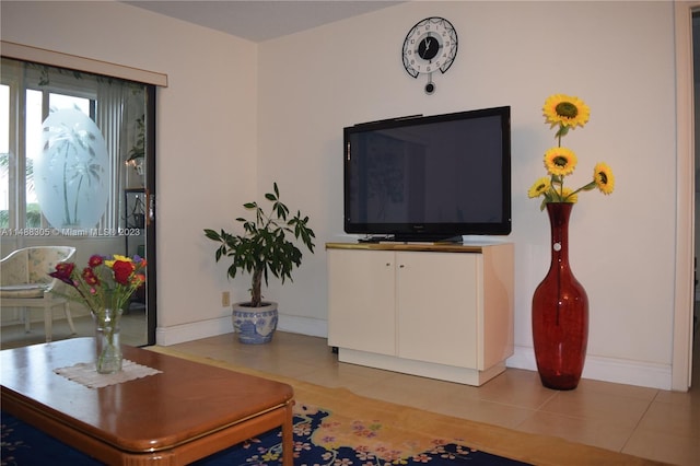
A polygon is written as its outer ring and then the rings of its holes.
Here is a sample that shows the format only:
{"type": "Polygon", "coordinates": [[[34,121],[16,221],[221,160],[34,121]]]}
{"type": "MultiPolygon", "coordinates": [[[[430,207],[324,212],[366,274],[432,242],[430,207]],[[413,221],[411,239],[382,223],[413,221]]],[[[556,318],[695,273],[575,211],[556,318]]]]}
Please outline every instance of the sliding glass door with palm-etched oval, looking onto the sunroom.
{"type": "MultiPolygon", "coordinates": [[[[122,336],[154,343],[155,86],[8,58],[1,71],[2,257],[34,245],[74,246],[79,267],[93,254],[145,257],[122,336]]],[[[21,315],[3,310],[3,335],[21,315]]]]}

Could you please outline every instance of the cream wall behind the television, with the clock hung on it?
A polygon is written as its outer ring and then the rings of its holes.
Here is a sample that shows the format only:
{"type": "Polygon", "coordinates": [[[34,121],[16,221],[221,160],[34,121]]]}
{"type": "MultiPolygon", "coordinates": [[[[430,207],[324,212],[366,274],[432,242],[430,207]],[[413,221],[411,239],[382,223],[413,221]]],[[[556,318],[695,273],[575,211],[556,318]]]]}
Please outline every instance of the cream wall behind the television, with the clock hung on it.
{"type": "MultiPolygon", "coordinates": [[[[541,116],[545,98],[579,95],[592,117],[565,138],[580,159],[575,186],[591,179],[598,161],[609,163],[617,177],[609,197],[597,190],[581,195],[570,230],[572,267],[591,301],[584,375],[668,387],[673,39],[669,2],[411,2],[262,43],[260,188],[273,179],[287,188],[290,202],[310,210],[319,244],[345,240],[343,126],[511,105],[518,350],[509,363],[534,369],[530,299],[549,266],[549,225],[527,189],[545,175],[541,155],[555,144],[541,116]],[[428,96],[424,78],[404,71],[400,50],[408,30],[431,15],[454,24],[459,48],[428,96]]],[[[325,252],[306,258],[294,277],[294,287],[271,290],[284,312],[324,319],[325,252]]]]}

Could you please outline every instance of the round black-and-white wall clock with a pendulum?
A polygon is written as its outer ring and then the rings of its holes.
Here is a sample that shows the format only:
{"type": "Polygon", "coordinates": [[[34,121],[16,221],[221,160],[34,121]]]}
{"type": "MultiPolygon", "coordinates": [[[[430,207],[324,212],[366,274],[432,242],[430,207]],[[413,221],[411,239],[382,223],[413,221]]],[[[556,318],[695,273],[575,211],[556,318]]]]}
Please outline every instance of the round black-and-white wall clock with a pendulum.
{"type": "Polygon", "coordinates": [[[419,21],[404,39],[404,68],[411,77],[428,75],[425,93],[435,92],[432,74],[445,73],[457,56],[457,31],[444,18],[431,16],[419,21]]]}

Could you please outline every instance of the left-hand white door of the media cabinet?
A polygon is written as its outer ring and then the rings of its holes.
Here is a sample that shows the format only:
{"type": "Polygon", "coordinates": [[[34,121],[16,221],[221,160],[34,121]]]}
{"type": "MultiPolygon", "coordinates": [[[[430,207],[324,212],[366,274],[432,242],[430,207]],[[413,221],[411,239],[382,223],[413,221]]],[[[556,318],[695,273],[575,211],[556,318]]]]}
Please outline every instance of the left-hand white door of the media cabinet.
{"type": "Polygon", "coordinates": [[[328,345],[396,354],[394,253],[328,249],[328,345]]]}

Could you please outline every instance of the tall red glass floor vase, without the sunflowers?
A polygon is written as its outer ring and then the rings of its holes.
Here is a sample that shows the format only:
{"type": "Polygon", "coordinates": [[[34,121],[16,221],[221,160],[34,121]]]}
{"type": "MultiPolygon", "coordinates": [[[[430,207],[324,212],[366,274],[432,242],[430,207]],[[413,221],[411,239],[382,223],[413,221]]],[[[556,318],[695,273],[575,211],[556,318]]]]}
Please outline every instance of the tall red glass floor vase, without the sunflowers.
{"type": "Polygon", "coordinates": [[[533,342],[539,377],[548,388],[579,385],[588,343],[588,296],[569,267],[573,203],[549,202],[551,265],[533,295],[533,342]]]}

